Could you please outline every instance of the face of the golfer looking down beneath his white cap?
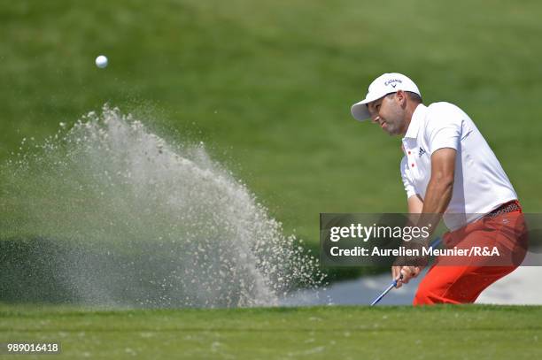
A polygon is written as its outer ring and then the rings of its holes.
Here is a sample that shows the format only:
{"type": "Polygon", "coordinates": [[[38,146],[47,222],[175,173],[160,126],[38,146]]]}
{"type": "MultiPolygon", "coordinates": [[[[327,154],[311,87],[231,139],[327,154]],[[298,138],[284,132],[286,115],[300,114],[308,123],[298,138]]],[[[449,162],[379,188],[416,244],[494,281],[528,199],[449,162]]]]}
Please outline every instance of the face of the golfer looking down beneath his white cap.
{"type": "Polygon", "coordinates": [[[405,109],[401,106],[404,96],[404,93],[390,94],[368,103],[373,123],[380,125],[390,135],[405,134],[405,109]]]}

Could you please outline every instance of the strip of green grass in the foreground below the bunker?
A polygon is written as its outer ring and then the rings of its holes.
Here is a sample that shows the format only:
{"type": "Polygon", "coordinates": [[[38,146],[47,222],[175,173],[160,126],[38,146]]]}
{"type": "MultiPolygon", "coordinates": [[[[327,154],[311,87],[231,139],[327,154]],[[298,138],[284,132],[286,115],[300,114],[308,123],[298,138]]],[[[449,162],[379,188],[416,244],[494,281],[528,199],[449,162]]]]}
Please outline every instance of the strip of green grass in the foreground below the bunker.
{"type": "Polygon", "coordinates": [[[64,358],[536,359],[542,356],[541,324],[540,306],[0,306],[0,342],[60,341],[64,358]]]}

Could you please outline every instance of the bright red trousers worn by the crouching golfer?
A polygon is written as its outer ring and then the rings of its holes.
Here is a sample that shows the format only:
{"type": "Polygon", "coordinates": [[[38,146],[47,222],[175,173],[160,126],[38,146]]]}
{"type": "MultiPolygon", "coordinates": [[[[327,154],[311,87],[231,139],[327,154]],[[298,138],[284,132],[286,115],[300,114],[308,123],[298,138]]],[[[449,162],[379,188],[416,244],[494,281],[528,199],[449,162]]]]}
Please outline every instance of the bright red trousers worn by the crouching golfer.
{"type": "MultiPolygon", "coordinates": [[[[519,207],[519,203],[517,205],[519,207]]],[[[527,226],[519,208],[492,218],[480,218],[445,234],[443,240],[446,248],[497,247],[499,261],[495,263],[479,257],[469,258],[466,264],[464,258],[455,262],[447,258],[443,262],[441,257],[437,257],[418,287],[414,305],[474,303],[486,287],[522,263],[527,249],[527,226]]]]}

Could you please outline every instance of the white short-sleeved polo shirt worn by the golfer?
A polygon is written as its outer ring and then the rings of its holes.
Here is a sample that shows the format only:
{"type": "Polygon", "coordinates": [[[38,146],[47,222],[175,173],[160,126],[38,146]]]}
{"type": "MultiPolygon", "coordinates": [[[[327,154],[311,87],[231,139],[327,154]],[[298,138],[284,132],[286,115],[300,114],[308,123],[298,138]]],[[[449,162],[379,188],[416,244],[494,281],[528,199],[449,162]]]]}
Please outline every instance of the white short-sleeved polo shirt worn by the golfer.
{"type": "Polygon", "coordinates": [[[452,103],[419,104],[402,142],[405,157],[401,160],[401,177],[407,197],[418,194],[425,198],[433,152],[442,148],[457,150],[452,200],[443,216],[450,230],[517,199],[484,136],[452,103]]]}

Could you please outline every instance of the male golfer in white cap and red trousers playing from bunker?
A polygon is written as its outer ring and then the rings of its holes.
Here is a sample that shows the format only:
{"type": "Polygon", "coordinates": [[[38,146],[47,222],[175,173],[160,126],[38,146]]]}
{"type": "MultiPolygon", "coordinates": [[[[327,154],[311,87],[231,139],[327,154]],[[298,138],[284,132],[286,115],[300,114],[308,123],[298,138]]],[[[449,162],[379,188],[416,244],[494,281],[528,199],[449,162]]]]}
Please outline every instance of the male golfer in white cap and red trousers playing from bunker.
{"type": "MultiPolygon", "coordinates": [[[[452,103],[422,103],[418,87],[405,75],[384,73],[368,87],[352,116],[371,119],[390,135],[401,135],[400,173],[410,213],[436,214],[450,230],[446,247],[493,246],[504,264],[468,264],[430,268],[414,296],[414,305],[474,303],[478,295],[521,264],[526,226],[515,190],[499,160],[468,115],[452,103]],[[501,256],[502,258],[502,256],[501,256]]],[[[436,226],[435,226],[436,227],[436,226]]],[[[398,287],[418,276],[423,266],[393,266],[398,287]]]]}

